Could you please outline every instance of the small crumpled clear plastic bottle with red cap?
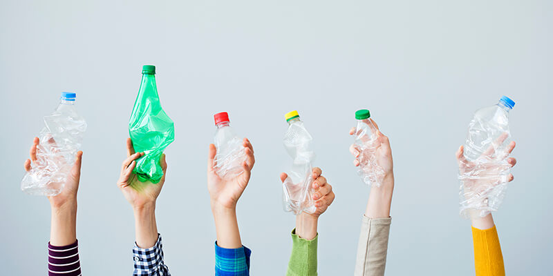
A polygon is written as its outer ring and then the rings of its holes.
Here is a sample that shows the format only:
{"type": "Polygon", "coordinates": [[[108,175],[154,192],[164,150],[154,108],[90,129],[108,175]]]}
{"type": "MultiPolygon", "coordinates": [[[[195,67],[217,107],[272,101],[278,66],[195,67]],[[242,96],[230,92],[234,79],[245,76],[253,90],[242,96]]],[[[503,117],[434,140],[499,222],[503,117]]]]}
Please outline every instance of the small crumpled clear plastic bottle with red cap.
{"type": "Polygon", "coordinates": [[[229,115],[221,112],[214,115],[217,130],[214,144],[217,149],[214,168],[223,179],[231,179],[244,172],[242,164],[246,159],[243,140],[230,127],[229,115]]]}

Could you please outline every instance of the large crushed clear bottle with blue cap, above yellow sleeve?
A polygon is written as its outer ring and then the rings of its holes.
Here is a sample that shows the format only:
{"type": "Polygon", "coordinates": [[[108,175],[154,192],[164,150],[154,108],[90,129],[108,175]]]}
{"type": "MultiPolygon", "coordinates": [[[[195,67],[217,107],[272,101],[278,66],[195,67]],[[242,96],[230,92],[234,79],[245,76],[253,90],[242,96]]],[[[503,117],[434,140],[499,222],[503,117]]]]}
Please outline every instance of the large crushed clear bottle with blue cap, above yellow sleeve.
{"type": "Polygon", "coordinates": [[[476,211],[485,217],[498,210],[505,191],[511,166],[507,162],[510,142],[509,111],[514,101],[501,97],[494,106],[474,113],[465,141],[465,159],[460,160],[460,215],[469,217],[476,211]]]}

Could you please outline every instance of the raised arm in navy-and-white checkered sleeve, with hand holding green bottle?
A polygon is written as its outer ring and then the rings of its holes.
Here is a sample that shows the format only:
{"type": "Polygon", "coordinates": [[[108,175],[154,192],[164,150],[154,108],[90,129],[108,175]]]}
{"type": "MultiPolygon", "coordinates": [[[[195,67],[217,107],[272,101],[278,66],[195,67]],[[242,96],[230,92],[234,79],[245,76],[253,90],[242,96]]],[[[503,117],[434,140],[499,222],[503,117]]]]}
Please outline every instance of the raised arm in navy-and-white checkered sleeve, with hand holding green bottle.
{"type": "Polygon", "coordinates": [[[133,174],[136,159],[144,152],[134,152],[131,139],[126,140],[127,158],[123,161],[118,186],[133,207],[135,219],[135,246],[133,248],[133,275],[169,276],[163,260],[161,235],[156,224],[156,200],[167,174],[165,154],[160,158],[163,177],[157,184],[141,182],[133,174]]]}

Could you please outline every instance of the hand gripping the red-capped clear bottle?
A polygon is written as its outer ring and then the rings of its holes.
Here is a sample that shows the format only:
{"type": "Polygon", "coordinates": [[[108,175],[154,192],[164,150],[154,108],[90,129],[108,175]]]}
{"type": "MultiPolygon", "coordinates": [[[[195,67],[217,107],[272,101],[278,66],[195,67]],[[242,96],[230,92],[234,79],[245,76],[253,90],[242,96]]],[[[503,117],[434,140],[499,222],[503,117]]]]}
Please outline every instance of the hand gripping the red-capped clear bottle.
{"type": "Polygon", "coordinates": [[[214,158],[217,153],[214,144],[209,144],[207,154],[207,190],[211,199],[212,209],[221,207],[226,209],[236,208],[236,203],[244,192],[252,168],[254,167],[254,148],[250,140],[244,138],[243,147],[245,148],[246,159],[242,164],[243,172],[231,179],[223,179],[217,175],[214,168],[214,158]]]}

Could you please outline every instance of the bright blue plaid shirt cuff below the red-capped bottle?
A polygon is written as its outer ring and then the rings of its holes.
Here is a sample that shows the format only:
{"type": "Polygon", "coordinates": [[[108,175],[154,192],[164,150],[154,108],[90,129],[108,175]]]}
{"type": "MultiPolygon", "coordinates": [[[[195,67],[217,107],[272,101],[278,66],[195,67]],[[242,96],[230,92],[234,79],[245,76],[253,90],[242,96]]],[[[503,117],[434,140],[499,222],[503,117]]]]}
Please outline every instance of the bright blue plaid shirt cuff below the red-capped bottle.
{"type": "Polygon", "coordinates": [[[215,242],[215,276],[250,276],[252,250],[222,248],[215,242]]]}

